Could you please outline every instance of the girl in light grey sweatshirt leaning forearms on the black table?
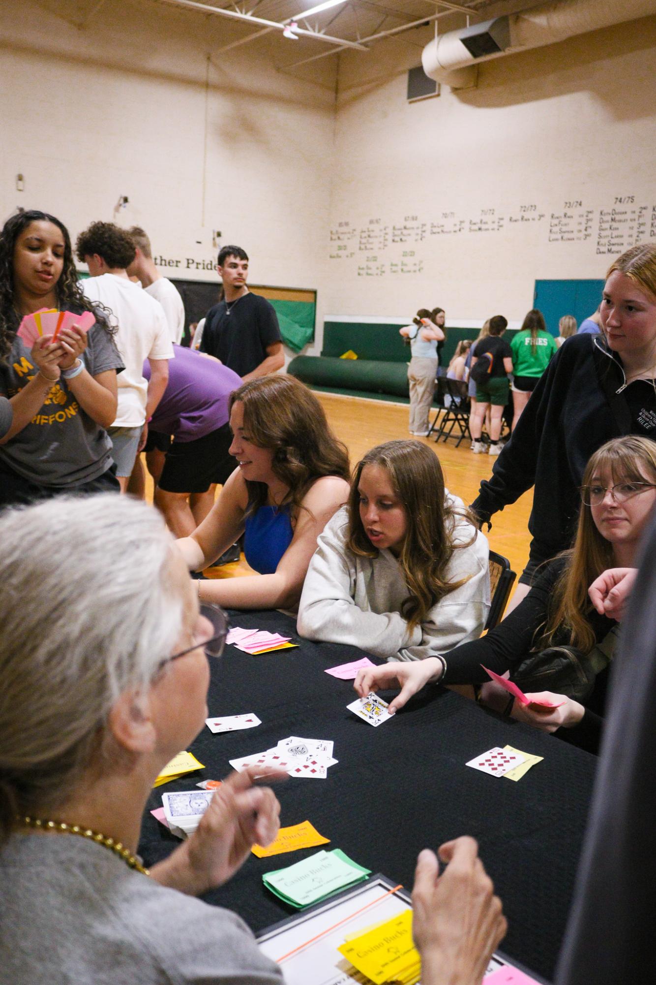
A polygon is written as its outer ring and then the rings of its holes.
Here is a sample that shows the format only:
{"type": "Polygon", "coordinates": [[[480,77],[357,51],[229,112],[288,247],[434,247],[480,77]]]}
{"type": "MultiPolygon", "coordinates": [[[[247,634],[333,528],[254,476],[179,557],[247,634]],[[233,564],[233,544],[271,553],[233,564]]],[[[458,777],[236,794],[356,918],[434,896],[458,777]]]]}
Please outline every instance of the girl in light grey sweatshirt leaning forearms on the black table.
{"type": "Polygon", "coordinates": [[[485,625],[488,555],[435,452],[422,441],[380,444],[319,538],[298,631],[389,660],[445,653],[485,625]]]}

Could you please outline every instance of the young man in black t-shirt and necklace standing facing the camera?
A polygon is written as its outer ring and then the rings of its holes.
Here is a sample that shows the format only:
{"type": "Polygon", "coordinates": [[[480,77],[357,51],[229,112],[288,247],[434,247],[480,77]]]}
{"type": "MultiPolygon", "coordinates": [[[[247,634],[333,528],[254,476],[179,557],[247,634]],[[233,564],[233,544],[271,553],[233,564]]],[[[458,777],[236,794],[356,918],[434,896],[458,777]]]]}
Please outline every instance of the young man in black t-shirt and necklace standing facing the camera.
{"type": "Polygon", "coordinates": [[[209,353],[247,383],[281,369],[280,329],[273,306],[246,287],[248,256],[241,246],[223,246],[218,254],[223,300],[208,311],[201,352],[209,353]]]}

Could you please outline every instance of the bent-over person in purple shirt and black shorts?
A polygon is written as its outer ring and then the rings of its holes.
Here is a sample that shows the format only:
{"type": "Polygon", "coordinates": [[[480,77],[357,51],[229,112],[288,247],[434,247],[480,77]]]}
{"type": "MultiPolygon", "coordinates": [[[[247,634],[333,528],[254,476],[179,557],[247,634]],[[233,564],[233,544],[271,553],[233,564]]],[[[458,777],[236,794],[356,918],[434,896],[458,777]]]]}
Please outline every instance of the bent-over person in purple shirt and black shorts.
{"type": "MultiPolygon", "coordinates": [[[[223,485],[236,462],[229,454],[228,398],[241,386],[236,372],[218,360],[173,346],[168,383],[149,431],[170,435],[161,471],[147,456],[155,480],[153,502],[175,537],[188,537],[205,519],[215,484],[223,485]]],[[[149,379],[149,361],[144,363],[149,379]]]]}

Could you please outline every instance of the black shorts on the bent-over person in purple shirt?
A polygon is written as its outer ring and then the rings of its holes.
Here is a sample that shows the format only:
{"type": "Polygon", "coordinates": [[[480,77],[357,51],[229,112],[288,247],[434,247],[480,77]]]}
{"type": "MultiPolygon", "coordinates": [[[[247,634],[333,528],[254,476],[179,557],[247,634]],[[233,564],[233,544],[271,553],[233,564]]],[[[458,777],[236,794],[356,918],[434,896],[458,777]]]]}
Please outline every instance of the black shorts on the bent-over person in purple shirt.
{"type": "Polygon", "coordinates": [[[232,431],[227,424],[194,441],[173,441],[157,487],[162,493],[207,493],[212,483],[222,486],[237,468],[228,453],[231,444],[232,431]]]}

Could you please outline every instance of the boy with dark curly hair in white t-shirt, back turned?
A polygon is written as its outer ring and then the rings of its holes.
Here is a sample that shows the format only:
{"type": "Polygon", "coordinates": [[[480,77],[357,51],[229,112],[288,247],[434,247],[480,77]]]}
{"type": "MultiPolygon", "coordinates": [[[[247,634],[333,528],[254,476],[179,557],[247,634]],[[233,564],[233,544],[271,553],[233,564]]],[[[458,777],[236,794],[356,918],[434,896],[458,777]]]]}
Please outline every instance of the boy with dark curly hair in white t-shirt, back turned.
{"type": "Polygon", "coordinates": [[[76,243],[78,259],[89,267],[82,283],[85,295],[111,311],[115,338],[125,362],[117,377],[118,411],[108,433],[116,477],[125,493],[135,459],[148,435],[148,421],[168,382],[168,360],[173,359],[168,325],[158,301],[129,279],[127,267],[135,246],[125,230],[113,223],[91,223],[76,243]],[[144,360],[150,361],[150,381],[144,360]]]}

